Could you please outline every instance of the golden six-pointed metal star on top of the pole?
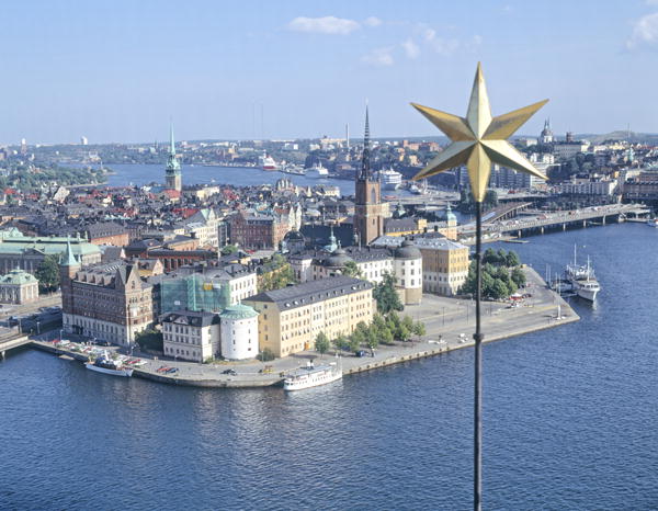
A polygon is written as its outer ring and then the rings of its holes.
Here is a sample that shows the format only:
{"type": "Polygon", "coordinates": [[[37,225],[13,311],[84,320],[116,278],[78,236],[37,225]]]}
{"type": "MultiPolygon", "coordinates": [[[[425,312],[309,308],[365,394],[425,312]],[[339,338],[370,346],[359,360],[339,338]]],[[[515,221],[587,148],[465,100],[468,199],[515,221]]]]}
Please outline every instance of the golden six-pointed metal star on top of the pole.
{"type": "Polygon", "coordinates": [[[508,114],[491,117],[485,77],[478,63],[466,118],[411,103],[411,106],[423,114],[452,140],[452,144],[418,172],[413,179],[428,178],[461,164],[466,164],[470,189],[477,202],[485,200],[491,163],[498,163],[545,180],[546,177],[535,169],[507,139],[547,102],[548,100],[540,101],[508,114]]]}

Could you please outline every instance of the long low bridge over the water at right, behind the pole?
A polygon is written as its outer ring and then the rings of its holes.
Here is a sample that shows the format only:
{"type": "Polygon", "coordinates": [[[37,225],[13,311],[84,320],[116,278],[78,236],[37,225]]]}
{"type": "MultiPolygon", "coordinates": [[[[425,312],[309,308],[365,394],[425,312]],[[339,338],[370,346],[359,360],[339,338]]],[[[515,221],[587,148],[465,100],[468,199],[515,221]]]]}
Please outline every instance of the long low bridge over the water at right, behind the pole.
{"type": "MultiPolygon", "coordinates": [[[[567,228],[587,227],[588,225],[605,225],[609,222],[624,222],[627,216],[638,217],[649,213],[649,208],[638,204],[609,204],[556,213],[537,212],[536,215],[517,219],[484,222],[483,234],[489,238],[506,235],[520,238],[524,235],[544,234],[547,229],[566,230],[567,228]]],[[[474,236],[475,225],[462,226],[460,235],[465,238],[474,236]]]]}

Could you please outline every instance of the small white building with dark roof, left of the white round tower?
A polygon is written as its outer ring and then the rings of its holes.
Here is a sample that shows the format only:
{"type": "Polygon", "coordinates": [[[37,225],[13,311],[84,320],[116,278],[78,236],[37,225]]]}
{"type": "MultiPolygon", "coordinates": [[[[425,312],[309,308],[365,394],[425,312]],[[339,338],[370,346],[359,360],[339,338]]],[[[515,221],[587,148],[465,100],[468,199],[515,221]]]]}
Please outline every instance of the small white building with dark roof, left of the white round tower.
{"type": "Polygon", "coordinates": [[[163,315],[162,350],[168,356],[203,363],[220,354],[219,316],[191,310],[163,315]]]}

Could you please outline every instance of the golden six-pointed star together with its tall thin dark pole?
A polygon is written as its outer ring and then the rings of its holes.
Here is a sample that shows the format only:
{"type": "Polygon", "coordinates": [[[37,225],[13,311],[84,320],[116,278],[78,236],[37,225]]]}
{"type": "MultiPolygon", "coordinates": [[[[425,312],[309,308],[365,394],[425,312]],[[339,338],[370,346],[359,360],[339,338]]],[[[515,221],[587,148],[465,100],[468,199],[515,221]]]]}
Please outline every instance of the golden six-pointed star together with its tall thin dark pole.
{"type": "Polygon", "coordinates": [[[481,243],[483,243],[483,202],[487,192],[491,163],[498,163],[512,170],[525,172],[546,179],[527,159],[514,149],[507,139],[513,135],[537,110],[548,100],[515,110],[497,117],[491,116],[489,98],[480,65],[477,65],[475,80],[470,92],[470,101],[466,117],[458,117],[439,110],[411,105],[424,115],[432,124],[451,139],[451,144],[440,152],[428,166],[418,172],[413,180],[421,180],[465,164],[468,170],[470,191],[475,198],[475,406],[474,406],[474,480],[473,507],[480,510],[483,506],[481,486],[481,444],[483,444],[483,339],[481,332],[481,243]]]}

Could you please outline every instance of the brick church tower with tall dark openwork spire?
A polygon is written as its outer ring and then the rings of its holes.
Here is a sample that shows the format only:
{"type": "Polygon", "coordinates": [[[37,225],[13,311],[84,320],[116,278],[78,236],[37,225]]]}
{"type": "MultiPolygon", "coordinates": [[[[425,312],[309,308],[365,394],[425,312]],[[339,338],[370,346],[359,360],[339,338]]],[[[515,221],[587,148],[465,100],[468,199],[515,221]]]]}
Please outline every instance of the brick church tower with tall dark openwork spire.
{"type": "Polygon", "coordinates": [[[361,169],[356,172],[354,188],[354,236],[359,245],[370,245],[384,234],[382,211],[382,190],[370,168],[370,124],[367,106],[365,109],[365,136],[361,169]]]}

